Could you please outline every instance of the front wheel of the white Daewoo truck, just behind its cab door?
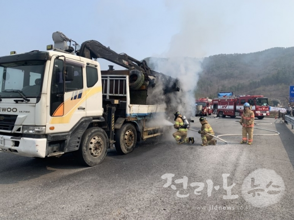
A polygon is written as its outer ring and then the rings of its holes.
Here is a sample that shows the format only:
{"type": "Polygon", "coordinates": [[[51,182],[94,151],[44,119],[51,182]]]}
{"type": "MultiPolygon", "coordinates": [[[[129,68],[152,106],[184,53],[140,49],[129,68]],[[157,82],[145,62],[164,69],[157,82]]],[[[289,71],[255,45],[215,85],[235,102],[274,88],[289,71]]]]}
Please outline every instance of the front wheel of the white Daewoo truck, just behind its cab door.
{"type": "Polygon", "coordinates": [[[107,146],[108,138],[103,129],[97,127],[87,129],[76,152],[78,161],[85,166],[98,165],[107,154],[107,146]]]}

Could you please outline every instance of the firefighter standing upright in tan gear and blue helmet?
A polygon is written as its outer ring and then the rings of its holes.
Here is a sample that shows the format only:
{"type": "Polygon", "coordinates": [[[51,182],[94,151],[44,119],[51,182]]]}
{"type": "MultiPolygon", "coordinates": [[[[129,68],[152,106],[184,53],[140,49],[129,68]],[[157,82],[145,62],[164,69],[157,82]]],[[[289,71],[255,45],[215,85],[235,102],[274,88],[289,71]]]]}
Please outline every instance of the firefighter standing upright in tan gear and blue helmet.
{"type": "Polygon", "coordinates": [[[251,145],[253,141],[254,112],[250,110],[250,105],[247,102],[244,103],[244,111],[239,122],[243,126],[241,143],[247,143],[248,133],[248,144],[251,145]]]}

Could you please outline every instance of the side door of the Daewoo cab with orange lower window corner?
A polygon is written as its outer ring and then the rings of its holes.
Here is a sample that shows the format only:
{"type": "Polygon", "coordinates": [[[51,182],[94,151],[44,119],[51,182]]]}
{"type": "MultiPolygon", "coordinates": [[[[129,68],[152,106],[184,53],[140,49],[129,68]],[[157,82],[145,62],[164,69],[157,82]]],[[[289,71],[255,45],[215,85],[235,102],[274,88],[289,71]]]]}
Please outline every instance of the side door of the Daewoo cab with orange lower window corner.
{"type": "MultiPolygon", "coordinates": [[[[82,117],[86,116],[86,102],[83,80],[83,64],[68,62],[66,66],[73,68],[73,79],[67,81],[62,74],[63,59],[55,59],[50,87],[50,122],[49,124],[66,124],[58,127],[58,131],[69,131],[82,117]],[[65,88],[64,88],[64,80],[65,88]]],[[[55,130],[56,132],[56,130],[55,130]]]]}

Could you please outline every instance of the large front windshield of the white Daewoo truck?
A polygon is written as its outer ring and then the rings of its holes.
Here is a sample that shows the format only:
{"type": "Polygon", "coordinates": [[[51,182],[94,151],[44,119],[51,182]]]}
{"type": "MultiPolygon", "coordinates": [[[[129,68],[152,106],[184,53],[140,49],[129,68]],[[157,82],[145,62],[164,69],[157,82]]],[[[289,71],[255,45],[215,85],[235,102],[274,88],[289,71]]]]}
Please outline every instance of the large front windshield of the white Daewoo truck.
{"type": "Polygon", "coordinates": [[[0,64],[1,98],[19,98],[22,97],[21,94],[31,98],[39,96],[44,66],[45,61],[0,64]]]}

